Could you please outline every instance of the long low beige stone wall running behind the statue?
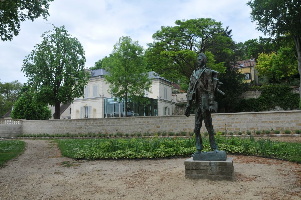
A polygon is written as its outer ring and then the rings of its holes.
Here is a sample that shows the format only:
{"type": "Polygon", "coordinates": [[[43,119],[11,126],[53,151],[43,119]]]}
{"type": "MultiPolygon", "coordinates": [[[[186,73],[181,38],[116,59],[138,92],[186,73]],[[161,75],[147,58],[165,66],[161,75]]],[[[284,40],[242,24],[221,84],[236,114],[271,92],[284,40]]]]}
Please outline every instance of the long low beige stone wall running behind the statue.
{"type": "MultiPolygon", "coordinates": [[[[301,129],[301,111],[212,114],[215,131],[301,129]]],[[[204,124],[204,123],[203,123],[204,124]]],[[[194,115],[119,117],[65,120],[24,120],[23,134],[36,133],[137,133],[156,131],[193,132],[194,115]]],[[[202,132],[206,132],[203,125],[202,132]]]]}

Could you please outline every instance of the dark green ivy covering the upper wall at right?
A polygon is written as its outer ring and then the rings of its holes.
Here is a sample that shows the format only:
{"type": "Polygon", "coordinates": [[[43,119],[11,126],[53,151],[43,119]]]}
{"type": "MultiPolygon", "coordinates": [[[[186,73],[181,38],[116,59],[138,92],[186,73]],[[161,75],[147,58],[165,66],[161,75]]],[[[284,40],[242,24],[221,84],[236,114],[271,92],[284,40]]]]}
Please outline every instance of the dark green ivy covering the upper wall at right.
{"type": "Polygon", "coordinates": [[[269,111],[279,106],[284,110],[298,110],[299,94],[292,93],[289,86],[264,85],[259,98],[240,99],[236,112],[269,111]]]}

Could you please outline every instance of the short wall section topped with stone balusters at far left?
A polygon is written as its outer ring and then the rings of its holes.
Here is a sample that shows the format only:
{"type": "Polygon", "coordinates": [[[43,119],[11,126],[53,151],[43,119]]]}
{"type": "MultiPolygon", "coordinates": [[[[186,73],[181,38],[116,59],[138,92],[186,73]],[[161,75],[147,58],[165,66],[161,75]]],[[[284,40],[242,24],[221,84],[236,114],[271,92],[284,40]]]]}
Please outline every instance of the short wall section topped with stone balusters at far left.
{"type": "Polygon", "coordinates": [[[1,119],[0,137],[14,137],[22,132],[22,120],[1,119]]]}

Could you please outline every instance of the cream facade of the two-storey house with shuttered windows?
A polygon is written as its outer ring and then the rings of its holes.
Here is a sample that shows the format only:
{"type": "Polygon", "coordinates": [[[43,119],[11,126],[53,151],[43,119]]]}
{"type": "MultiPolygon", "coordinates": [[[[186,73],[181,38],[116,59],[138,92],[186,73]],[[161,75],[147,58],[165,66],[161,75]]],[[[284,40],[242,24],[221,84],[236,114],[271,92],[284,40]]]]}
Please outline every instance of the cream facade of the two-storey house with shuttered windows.
{"type": "MultiPolygon", "coordinates": [[[[103,69],[89,71],[91,72],[91,77],[85,87],[85,98],[76,98],[71,104],[72,119],[104,117],[104,99],[111,97],[108,93],[109,84],[106,84],[103,77],[107,72],[103,69]]],[[[150,78],[153,79],[151,93],[144,96],[157,99],[157,115],[172,115],[175,103],[172,102],[171,82],[154,72],[150,72],[149,74],[150,78]]]]}

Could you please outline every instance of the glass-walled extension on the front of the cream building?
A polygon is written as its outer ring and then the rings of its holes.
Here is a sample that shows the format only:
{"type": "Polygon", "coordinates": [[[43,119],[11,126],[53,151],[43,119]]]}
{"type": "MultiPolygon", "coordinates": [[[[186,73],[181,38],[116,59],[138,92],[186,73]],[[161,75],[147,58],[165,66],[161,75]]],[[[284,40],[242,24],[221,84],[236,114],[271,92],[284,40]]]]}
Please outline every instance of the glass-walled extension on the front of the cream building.
{"type": "Polygon", "coordinates": [[[125,111],[125,101],[114,98],[104,99],[104,117],[139,117],[157,116],[158,100],[154,98],[141,97],[140,102],[128,102],[128,109],[125,111]],[[144,102],[144,103],[141,103],[144,102]]]}

